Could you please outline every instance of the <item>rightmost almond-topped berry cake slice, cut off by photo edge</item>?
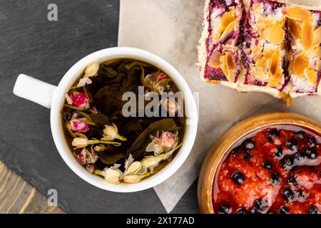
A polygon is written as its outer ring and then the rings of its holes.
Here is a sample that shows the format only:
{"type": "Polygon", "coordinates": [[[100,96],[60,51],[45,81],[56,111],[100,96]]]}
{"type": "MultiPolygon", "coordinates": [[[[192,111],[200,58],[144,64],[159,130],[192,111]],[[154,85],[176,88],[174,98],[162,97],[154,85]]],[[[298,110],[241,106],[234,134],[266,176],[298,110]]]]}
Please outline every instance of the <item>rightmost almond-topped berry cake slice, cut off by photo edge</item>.
{"type": "Polygon", "coordinates": [[[321,11],[320,7],[288,4],[287,26],[290,31],[289,93],[292,98],[320,93],[321,11]]]}

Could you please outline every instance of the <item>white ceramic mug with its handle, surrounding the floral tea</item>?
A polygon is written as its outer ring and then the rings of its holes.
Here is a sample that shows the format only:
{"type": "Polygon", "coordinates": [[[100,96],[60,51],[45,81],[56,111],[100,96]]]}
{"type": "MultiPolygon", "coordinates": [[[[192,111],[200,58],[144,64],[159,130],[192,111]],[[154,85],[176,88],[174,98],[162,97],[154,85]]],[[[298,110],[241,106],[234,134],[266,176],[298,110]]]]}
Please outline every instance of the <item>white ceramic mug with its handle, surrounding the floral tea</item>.
{"type": "Polygon", "coordinates": [[[51,122],[51,133],[54,137],[54,142],[63,160],[66,162],[68,167],[73,170],[79,177],[91,185],[100,187],[103,190],[110,190],[113,192],[137,192],[146,190],[150,187],[154,187],[161,182],[167,180],[173,175],[178,168],[183,165],[183,162],[188,157],[188,154],[192,150],[193,143],[195,141],[197,126],[198,126],[198,113],[195,105],[195,100],[188,87],[188,84],[184,81],[183,77],[178,71],[173,68],[168,62],[162,58],[143,51],[138,48],[107,48],[101,51],[91,53],[85,58],[78,61],[73,65],[68,72],[63,76],[58,86],[53,86],[49,83],[44,83],[26,76],[24,74],[19,75],[14,86],[14,94],[21,98],[32,100],[46,108],[51,108],[50,122],[51,122]],[[183,146],[179,152],[175,155],[173,160],[166,165],[160,172],[147,177],[146,179],[136,184],[121,183],[119,185],[112,185],[106,182],[102,177],[93,175],[86,171],[73,157],[73,153],[68,147],[66,138],[63,133],[63,119],[61,116],[61,110],[65,101],[64,95],[68,92],[69,88],[76,82],[81,76],[86,66],[94,61],[104,62],[116,58],[133,58],[146,63],[150,63],[153,66],[161,68],[165,73],[173,79],[178,89],[184,93],[184,108],[185,115],[187,117],[186,122],[188,125],[185,126],[185,135],[183,137],[183,146]]]}

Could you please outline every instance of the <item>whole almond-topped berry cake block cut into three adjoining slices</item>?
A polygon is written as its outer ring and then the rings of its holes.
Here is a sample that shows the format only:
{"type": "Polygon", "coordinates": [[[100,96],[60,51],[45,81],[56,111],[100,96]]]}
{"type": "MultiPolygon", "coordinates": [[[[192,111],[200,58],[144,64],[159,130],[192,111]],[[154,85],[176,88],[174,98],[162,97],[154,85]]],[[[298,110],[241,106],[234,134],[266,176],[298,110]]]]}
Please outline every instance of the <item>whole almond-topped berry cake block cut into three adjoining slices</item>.
{"type": "Polygon", "coordinates": [[[205,0],[201,77],[287,103],[321,95],[321,1],[292,1],[205,0]]]}

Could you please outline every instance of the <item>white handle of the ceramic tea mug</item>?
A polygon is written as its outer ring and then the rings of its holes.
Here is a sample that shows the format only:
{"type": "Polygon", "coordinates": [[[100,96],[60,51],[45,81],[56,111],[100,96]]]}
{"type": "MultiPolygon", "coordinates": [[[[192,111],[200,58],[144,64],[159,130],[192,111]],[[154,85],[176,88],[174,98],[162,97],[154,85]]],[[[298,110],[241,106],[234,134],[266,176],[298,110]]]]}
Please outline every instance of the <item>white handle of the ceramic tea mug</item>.
{"type": "Polygon", "coordinates": [[[51,108],[51,100],[57,86],[45,83],[31,76],[20,74],[14,84],[14,94],[51,108]]]}

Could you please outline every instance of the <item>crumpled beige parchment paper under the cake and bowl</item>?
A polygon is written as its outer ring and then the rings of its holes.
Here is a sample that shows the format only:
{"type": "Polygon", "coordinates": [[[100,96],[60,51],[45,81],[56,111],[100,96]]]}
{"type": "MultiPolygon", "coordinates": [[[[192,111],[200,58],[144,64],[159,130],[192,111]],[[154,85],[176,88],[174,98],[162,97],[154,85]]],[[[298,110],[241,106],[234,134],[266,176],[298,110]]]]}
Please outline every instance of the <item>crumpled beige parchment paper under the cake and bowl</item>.
{"type": "Polygon", "coordinates": [[[203,159],[225,130],[258,113],[287,110],[321,120],[321,98],[297,98],[292,108],[265,93],[239,93],[205,84],[199,76],[197,46],[202,31],[203,0],[121,0],[118,46],[143,48],[171,63],[200,93],[198,135],[188,160],[169,180],[154,187],[170,212],[198,177],[203,159]]]}

